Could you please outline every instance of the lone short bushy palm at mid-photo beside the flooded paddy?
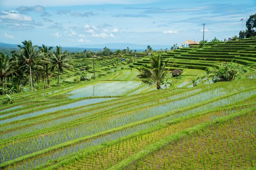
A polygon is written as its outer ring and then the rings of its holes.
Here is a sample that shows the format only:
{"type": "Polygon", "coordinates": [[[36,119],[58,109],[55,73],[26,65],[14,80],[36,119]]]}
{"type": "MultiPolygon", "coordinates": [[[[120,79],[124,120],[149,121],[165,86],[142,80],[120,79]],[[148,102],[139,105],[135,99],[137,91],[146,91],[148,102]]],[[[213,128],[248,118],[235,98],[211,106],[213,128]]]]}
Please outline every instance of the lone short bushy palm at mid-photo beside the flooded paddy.
{"type": "Polygon", "coordinates": [[[157,55],[156,57],[152,56],[150,58],[151,69],[146,67],[138,68],[140,74],[137,75],[137,77],[142,78],[143,83],[148,84],[149,86],[154,85],[157,89],[161,89],[161,84],[170,69],[168,68],[165,71],[165,67],[168,62],[169,60],[163,64],[162,59],[160,60],[160,55],[157,55]]]}

